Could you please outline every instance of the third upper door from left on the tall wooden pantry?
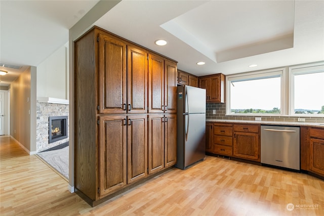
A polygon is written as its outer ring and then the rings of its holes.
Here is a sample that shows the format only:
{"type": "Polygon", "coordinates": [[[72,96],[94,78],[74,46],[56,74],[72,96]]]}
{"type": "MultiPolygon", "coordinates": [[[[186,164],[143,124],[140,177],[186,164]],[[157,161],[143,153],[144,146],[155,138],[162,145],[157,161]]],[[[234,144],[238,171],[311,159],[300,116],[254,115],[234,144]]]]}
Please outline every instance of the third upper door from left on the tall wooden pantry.
{"type": "Polygon", "coordinates": [[[148,112],[164,112],[164,59],[149,54],[148,60],[148,112]]]}

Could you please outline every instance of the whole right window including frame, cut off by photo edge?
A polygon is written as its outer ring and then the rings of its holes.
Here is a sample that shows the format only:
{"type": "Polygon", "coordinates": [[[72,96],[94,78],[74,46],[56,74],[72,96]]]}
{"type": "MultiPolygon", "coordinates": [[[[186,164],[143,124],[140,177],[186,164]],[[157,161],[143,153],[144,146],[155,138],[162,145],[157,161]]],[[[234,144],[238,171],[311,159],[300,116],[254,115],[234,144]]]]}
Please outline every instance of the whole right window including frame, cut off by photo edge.
{"type": "Polygon", "coordinates": [[[290,115],[324,115],[324,65],[291,67],[290,115]]]}

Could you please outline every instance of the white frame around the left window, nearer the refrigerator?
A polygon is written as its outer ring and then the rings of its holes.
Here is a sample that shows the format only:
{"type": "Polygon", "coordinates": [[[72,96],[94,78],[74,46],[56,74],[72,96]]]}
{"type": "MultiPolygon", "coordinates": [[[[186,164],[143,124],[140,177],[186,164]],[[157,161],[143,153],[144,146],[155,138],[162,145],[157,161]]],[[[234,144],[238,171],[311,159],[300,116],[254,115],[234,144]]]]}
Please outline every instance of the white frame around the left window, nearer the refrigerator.
{"type": "Polygon", "coordinates": [[[231,113],[230,106],[230,89],[226,88],[226,115],[231,116],[283,116],[287,114],[286,112],[286,68],[276,68],[271,70],[263,70],[263,71],[253,71],[247,73],[239,73],[233,75],[226,76],[226,84],[227,87],[230,87],[231,81],[236,80],[251,80],[251,79],[263,79],[270,78],[274,76],[280,76],[280,113],[231,113]]]}

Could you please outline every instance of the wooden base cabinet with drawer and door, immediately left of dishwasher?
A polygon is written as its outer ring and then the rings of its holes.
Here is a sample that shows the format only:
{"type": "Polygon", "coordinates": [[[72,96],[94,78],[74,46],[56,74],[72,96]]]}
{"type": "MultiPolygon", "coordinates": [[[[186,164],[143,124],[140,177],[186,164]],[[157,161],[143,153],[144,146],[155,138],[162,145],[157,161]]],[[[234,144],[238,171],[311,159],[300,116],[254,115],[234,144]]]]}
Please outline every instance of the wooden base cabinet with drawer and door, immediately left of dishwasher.
{"type": "Polygon", "coordinates": [[[260,125],[233,125],[233,156],[260,162],[260,125]]]}

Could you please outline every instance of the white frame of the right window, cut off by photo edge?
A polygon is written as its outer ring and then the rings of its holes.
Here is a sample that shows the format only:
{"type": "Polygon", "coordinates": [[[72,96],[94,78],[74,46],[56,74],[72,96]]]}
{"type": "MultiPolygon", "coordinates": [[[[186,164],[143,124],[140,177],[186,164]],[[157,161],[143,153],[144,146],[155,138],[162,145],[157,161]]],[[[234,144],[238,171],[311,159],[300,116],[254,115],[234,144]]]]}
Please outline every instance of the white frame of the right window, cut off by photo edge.
{"type": "Polygon", "coordinates": [[[324,62],[289,67],[289,116],[324,117],[324,114],[295,113],[295,75],[324,72],[324,62]]]}

